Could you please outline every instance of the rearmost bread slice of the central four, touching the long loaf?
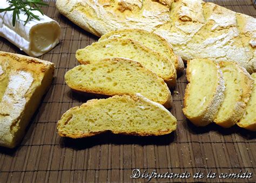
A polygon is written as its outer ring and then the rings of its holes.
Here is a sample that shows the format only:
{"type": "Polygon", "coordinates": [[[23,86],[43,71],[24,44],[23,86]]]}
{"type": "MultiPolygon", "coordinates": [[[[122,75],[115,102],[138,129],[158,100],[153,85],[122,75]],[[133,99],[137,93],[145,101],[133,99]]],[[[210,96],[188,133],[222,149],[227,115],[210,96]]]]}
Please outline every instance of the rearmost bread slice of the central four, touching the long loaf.
{"type": "Polygon", "coordinates": [[[142,29],[122,29],[104,34],[99,41],[109,38],[136,40],[151,50],[160,53],[163,57],[171,60],[178,73],[184,70],[183,60],[173,53],[171,44],[154,32],[142,29]]]}

